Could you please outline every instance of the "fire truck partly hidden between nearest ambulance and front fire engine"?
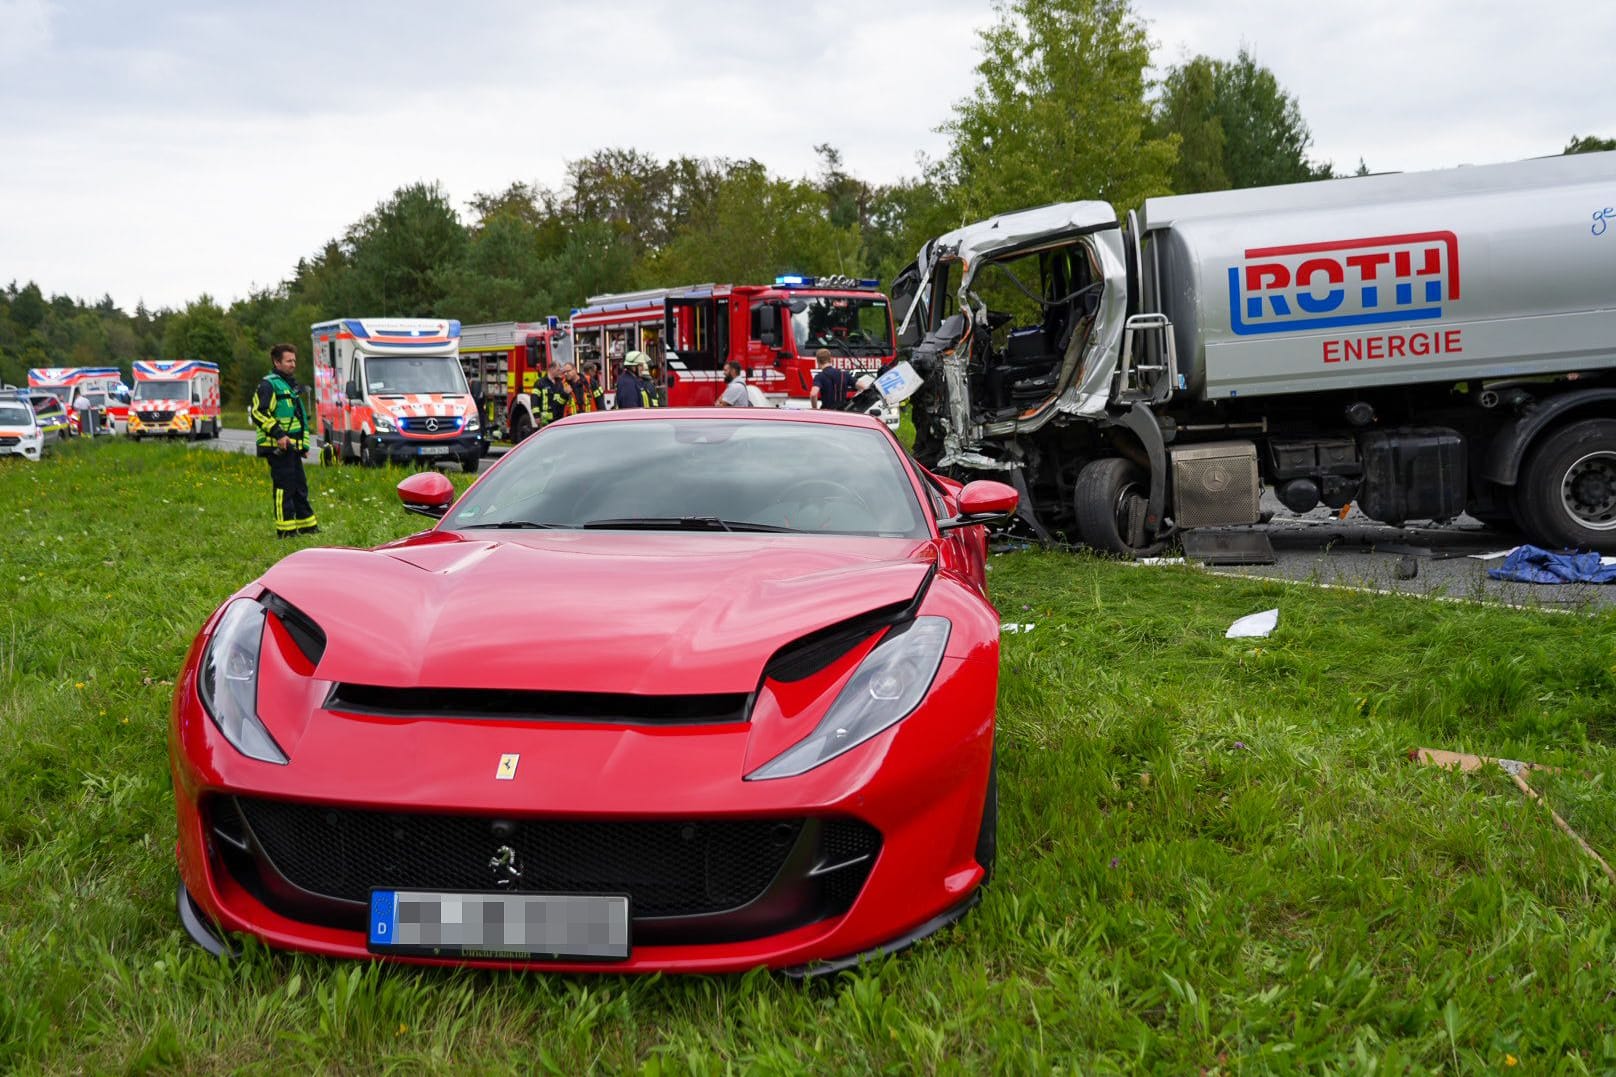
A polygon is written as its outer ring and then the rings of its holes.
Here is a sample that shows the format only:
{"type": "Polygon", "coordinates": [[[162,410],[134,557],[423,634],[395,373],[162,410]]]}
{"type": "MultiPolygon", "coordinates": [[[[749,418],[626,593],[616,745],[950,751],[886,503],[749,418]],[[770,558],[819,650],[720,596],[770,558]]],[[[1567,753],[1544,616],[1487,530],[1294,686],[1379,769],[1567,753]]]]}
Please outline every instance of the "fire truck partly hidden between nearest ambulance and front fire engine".
{"type": "Polygon", "coordinates": [[[490,437],[520,441],[540,427],[533,386],[551,365],[572,362],[572,333],[561,319],[488,322],[461,328],[465,380],[483,395],[490,437]]]}

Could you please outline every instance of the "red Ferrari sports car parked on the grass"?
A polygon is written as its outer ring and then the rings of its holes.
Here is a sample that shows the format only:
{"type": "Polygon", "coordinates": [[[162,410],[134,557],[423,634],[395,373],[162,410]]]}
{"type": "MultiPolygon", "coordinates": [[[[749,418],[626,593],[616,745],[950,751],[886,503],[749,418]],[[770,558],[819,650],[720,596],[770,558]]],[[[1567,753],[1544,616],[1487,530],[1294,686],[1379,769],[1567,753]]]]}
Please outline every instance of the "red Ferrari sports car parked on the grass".
{"type": "Polygon", "coordinates": [[[874,419],[556,422],[427,532],[280,561],[202,626],[179,917],[341,957],[826,972],[994,865],[986,522],[874,419]]]}

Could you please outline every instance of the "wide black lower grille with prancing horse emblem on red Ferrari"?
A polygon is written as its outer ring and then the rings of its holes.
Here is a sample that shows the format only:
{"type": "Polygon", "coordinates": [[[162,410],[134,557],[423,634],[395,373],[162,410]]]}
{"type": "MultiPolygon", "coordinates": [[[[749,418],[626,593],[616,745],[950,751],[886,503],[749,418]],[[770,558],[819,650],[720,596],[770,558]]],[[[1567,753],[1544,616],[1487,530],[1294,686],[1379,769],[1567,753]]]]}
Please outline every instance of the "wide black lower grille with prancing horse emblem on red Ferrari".
{"type": "MultiPolygon", "coordinates": [[[[343,902],[359,922],[372,889],[517,889],[627,894],[637,931],[674,917],[687,936],[763,935],[845,912],[881,849],[879,831],[852,818],[496,820],[259,797],[210,813],[221,852],[250,867],[249,888],[271,907],[294,894],[343,902]]],[[[331,912],[343,915],[318,919],[331,912]]]]}

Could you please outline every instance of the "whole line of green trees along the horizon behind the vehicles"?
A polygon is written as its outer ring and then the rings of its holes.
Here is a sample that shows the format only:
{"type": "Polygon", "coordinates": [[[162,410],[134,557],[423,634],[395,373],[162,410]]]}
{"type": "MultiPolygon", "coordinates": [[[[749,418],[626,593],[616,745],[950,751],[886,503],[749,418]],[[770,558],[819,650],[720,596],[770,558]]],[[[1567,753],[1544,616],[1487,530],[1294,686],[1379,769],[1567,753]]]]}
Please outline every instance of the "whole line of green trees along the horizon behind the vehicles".
{"type": "MultiPolygon", "coordinates": [[[[1126,0],[1000,0],[968,97],[942,125],[949,149],[890,184],[816,146],[813,176],[761,162],[601,149],[558,188],[514,181],[457,209],[438,183],[399,188],[291,275],[228,307],[202,294],[133,314],[110,296],[0,289],[0,382],[29,367],[210,359],[241,401],[275,341],[302,343],[338,315],[467,323],[566,315],[588,296],[776,273],[892,277],[921,243],[971,220],[1057,201],[1146,197],[1332,178],[1309,155],[1301,107],[1257,58],[1194,57],[1151,76],[1126,0]]],[[[1616,149],[1572,137],[1566,152],[1616,149]]],[[[1354,175],[1367,173],[1359,160],[1354,175]]],[[[307,362],[304,349],[304,362],[307,362]]],[[[307,370],[301,375],[307,378],[307,370]]]]}

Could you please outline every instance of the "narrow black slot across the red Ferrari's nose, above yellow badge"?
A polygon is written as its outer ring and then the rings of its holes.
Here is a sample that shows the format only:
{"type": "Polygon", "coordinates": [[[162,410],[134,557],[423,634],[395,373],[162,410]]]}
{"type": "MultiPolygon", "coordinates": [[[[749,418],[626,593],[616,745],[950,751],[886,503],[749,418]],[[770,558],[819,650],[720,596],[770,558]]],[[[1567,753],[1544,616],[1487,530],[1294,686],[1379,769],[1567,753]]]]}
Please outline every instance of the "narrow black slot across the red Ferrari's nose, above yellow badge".
{"type": "Polygon", "coordinates": [[[617,724],[713,724],[747,720],[747,695],[629,695],[504,689],[396,689],[336,684],[326,710],[385,718],[509,718],[617,724]]]}

